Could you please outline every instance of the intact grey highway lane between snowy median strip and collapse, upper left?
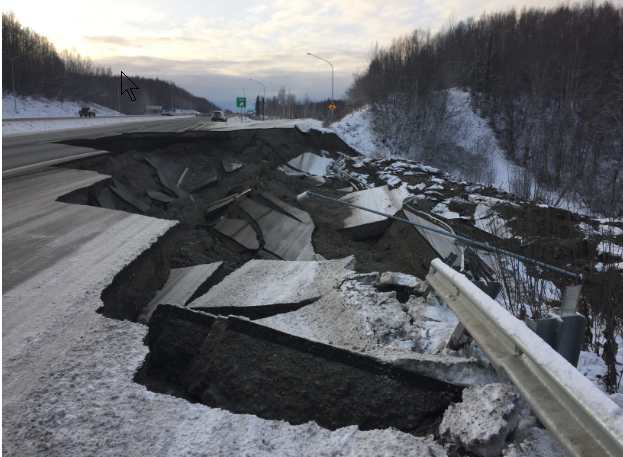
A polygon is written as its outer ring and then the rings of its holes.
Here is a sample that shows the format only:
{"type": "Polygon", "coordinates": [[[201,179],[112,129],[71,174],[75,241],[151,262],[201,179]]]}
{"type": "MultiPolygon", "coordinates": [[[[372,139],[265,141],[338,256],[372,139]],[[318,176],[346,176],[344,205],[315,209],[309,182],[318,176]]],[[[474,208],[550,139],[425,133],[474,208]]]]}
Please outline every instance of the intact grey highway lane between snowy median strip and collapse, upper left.
{"type": "Polygon", "coordinates": [[[2,171],[74,157],[94,151],[90,148],[68,146],[60,141],[70,139],[94,139],[132,132],[177,132],[192,128],[206,121],[201,117],[162,118],[145,122],[120,123],[98,127],[55,130],[32,134],[2,137],[2,171]]]}

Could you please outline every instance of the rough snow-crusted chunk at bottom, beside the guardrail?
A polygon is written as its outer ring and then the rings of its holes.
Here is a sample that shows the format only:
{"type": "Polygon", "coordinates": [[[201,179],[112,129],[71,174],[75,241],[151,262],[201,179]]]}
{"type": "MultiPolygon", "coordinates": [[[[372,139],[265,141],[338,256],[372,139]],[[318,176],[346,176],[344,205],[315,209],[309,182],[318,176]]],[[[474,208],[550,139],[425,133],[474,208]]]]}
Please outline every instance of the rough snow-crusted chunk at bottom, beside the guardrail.
{"type": "Polygon", "coordinates": [[[510,384],[486,384],[463,390],[463,401],[450,405],[439,425],[450,448],[481,457],[499,456],[519,421],[519,395],[510,384]]]}

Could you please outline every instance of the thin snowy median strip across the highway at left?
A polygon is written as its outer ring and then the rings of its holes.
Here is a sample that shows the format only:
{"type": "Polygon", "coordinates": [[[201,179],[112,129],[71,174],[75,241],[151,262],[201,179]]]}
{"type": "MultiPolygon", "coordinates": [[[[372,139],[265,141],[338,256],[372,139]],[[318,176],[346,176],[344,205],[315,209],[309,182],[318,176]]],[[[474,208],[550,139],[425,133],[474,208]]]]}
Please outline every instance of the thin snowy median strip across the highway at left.
{"type": "Polygon", "coordinates": [[[2,120],[2,136],[51,132],[55,130],[79,129],[86,127],[104,127],[113,124],[128,124],[155,120],[179,119],[179,117],[162,116],[118,116],[104,118],[75,119],[34,119],[34,120],[2,120]]]}

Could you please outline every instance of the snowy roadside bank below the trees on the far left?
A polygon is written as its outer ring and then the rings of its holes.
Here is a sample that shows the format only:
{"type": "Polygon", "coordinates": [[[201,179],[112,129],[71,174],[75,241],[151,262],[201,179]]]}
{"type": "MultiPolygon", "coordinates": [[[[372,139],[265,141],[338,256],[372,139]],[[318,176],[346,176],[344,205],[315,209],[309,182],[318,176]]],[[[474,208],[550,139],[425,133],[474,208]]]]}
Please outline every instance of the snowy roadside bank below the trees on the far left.
{"type": "Polygon", "coordinates": [[[98,116],[122,116],[119,113],[97,103],[89,103],[75,100],[51,100],[44,97],[15,97],[4,95],[2,97],[2,118],[24,117],[78,117],[78,111],[83,106],[93,109],[98,116]],[[15,105],[17,103],[17,111],[15,105]]]}

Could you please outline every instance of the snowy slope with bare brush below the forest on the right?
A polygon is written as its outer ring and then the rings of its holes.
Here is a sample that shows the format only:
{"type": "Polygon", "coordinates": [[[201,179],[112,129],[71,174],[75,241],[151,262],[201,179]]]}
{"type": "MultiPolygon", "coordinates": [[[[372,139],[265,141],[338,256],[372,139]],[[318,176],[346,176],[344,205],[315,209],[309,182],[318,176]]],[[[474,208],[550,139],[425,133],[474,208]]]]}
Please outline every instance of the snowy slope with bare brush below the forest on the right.
{"type": "MultiPolygon", "coordinates": [[[[393,117],[383,119],[381,124],[384,125],[380,128],[389,128],[392,145],[382,144],[375,136],[374,114],[368,106],[345,116],[331,127],[344,142],[369,157],[421,160],[459,179],[492,185],[526,200],[536,199],[538,194],[539,200],[552,206],[590,213],[583,204],[561,199],[557,193],[539,188],[532,173],[508,160],[487,120],[472,108],[469,92],[452,88],[444,96],[446,114],[443,122],[435,125],[414,127],[408,115],[384,110],[385,113],[391,112],[393,117]],[[438,141],[444,145],[442,153],[435,151],[431,158],[428,145],[419,142],[422,133],[417,132],[418,128],[424,132],[433,128],[440,132],[438,141]]],[[[426,109],[422,108],[424,115],[426,109]]]]}

